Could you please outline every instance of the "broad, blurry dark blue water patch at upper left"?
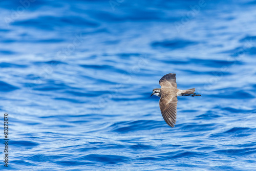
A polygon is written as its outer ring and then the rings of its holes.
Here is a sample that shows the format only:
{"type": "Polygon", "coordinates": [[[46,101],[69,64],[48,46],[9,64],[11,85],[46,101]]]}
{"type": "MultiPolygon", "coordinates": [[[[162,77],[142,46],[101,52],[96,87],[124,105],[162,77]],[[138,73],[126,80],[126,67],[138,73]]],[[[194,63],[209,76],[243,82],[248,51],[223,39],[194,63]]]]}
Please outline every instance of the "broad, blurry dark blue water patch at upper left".
{"type": "Polygon", "coordinates": [[[84,18],[78,16],[39,16],[37,18],[19,20],[12,23],[14,26],[20,27],[33,27],[42,30],[55,30],[56,28],[65,28],[70,25],[76,27],[98,27],[99,24],[95,22],[90,22],[84,18]]]}

